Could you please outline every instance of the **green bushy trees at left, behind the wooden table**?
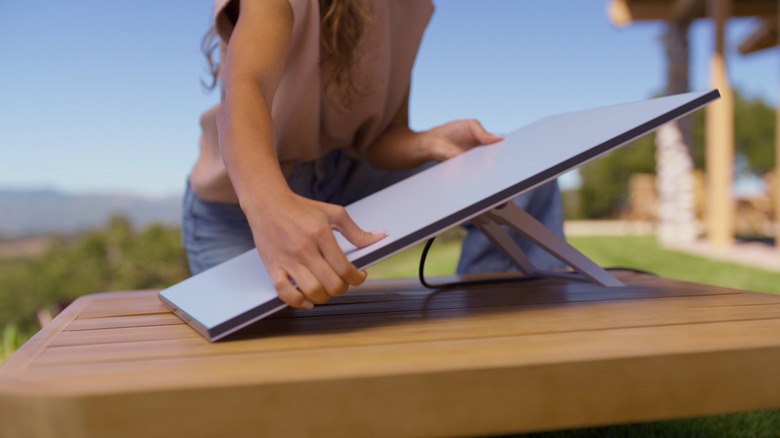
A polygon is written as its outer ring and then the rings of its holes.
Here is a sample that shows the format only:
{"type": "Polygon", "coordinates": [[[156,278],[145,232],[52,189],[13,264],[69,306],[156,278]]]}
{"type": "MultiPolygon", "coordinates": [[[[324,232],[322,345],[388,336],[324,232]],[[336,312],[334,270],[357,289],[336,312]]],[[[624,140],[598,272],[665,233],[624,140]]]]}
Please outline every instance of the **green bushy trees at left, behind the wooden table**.
{"type": "Polygon", "coordinates": [[[54,238],[45,254],[0,266],[0,327],[31,326],[35,313],[96,292],[164,288],[189,275],[178,228],[133,229],[111,218],[105,229],[54,238]]]}

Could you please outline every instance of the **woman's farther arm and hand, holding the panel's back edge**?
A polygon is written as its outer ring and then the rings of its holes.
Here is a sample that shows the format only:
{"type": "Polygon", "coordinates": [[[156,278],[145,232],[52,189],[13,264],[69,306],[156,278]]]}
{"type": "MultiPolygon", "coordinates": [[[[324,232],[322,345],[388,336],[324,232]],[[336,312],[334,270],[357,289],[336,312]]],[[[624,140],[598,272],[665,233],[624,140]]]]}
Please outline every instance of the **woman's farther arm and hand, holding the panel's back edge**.
{"type": "Polygon", "coordinates": [[[409,129],[409,92],[390,128],[367,150],[371,165],[385,170],[413,169],[427,161],[444,161],[501,137],[489,134],[476,120],[457,120],[428,131],[409,129]]]}

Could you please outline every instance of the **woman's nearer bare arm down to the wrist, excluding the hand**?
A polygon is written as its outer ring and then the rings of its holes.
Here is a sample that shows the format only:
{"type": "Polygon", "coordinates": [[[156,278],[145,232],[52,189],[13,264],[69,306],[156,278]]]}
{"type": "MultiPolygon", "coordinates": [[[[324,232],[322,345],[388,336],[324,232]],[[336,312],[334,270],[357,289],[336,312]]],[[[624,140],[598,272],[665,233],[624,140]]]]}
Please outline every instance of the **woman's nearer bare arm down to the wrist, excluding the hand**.
{"type": "Polygon", "coordinates": [[[293,17],[286,0],[241,1],[240,9],[224,60],[217,125],[225,167],[247,211],[289,193],[276,156],[271,104],[293,17]]]}

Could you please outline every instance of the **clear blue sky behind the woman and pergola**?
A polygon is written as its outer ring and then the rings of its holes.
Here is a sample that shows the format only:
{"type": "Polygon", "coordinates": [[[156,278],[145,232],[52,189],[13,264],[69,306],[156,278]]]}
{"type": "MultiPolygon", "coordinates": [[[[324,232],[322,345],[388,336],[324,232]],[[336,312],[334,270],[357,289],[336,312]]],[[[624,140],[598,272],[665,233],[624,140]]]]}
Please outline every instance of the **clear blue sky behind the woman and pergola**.
{"type": "MultiPolygon", "coordinates": [[[[0,188],[179,194],[198,149],[200,38],[210,0],[0,3],[0,188]]],[[[478,118],[497,133],[663,89],[657,24],[613,27],[605,0],[440,0],[413,73],[414,129],[478,118]]],[[[776,105],[777,49],[741,56],[732,83],[776,105]]],[[[691,30],[693,90],[708,85],[712,29],[691,30]]]]}

